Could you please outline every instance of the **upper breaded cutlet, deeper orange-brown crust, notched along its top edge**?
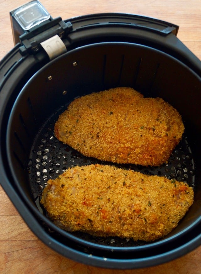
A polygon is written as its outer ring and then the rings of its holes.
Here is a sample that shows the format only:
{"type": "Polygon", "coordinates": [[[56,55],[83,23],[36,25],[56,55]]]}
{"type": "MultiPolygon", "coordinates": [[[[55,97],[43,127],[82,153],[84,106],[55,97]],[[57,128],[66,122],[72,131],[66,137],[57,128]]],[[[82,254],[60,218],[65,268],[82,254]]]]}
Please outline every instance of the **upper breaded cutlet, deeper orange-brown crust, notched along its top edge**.
{"type": "Polygon", "coordinates": [[[75,99],[59,116],[55,136],[85,156],[158,166],[179,143],[182,118],[161,98],[118,87],[75,99]]]}

